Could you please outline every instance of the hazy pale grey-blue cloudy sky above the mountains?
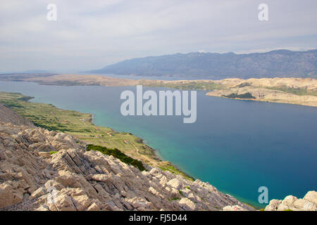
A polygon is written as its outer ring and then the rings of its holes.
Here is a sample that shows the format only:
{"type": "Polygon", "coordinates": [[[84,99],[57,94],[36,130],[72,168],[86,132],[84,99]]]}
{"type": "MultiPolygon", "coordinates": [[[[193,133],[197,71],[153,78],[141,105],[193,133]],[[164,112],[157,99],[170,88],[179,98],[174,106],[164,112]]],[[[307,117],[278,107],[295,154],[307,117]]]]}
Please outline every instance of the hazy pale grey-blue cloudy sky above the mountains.
{"type": "Polygon", "coordinates": [[[1,0],[0,72],[81,71],[143,56],[317,48],[316,0],[1,0]],[[57,6],[49,21],[46,6],[57,6]],[[268,5],[268,21],[258,6],[268,5]]]}

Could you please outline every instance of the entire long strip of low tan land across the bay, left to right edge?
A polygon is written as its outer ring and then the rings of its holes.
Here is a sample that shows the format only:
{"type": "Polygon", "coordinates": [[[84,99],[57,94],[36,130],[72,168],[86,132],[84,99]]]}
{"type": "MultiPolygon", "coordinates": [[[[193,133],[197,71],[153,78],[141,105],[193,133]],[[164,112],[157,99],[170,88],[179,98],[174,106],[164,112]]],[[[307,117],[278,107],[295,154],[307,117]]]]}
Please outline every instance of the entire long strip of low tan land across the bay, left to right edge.
{"type": "MultiPolygon", "coordinates": [[[[228,79],[127,79],[106,75],[77,74],[1,74],[0,81],[35,82],[56,86],[156,86],[181,90],[209,91],[207,96],[249,93],[253,101],[286,103],[317,107],[317,79],[296,77],[274,78],[228,78],[228,79]]],[[[241,98],[232,98],[241,99],[241,98]]]]}

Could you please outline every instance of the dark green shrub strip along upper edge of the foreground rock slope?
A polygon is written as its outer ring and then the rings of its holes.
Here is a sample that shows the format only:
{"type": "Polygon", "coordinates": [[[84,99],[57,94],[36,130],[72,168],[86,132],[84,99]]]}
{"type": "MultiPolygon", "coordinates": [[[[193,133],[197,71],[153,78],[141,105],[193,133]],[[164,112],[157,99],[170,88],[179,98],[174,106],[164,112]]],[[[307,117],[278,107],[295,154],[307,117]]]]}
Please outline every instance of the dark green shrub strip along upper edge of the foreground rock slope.
{"type": "Polygon", "coordinates": [[[143,166],[141,161],[130,158],[128,155],[125,155],[125,153],[120,152],[120,150],[118,150],[117,148],[106,148],[104,146],[87,145],[86,150],[97,150],[101,153],[104,153],[105,155],[112,155],[122,162],[139,168],[139,170],[141,171],[145,170],[145,167],[143,166]]]}

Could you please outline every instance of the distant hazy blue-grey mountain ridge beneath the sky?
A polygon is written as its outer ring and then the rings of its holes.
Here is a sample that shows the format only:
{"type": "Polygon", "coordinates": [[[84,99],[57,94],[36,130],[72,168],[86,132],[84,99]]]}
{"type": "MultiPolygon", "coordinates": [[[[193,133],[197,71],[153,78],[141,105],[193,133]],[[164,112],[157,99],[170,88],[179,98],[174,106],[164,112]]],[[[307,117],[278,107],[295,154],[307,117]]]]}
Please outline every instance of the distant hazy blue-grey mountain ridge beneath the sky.
{"type": "Polygon", "coordinates": [[[238,77],[317,78],[317,49],[309,51],[275,50],[266,53],[176,53],[165,56],[132,58],[89,72],[175,76],[209,79],[238,77]]]}

